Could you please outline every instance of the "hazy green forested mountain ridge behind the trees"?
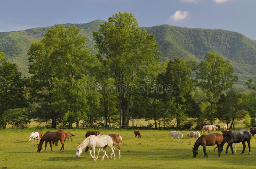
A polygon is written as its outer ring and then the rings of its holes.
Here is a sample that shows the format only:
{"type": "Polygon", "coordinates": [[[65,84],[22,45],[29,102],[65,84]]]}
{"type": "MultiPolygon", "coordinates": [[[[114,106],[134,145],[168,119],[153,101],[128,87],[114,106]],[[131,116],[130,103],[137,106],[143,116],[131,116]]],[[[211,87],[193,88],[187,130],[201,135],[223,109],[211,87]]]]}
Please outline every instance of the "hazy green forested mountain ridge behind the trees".
{"type": "MultiPolygon", "coordinates": [[[[86,48],[94,50],[92,31],[97,31],[104,20],[94,20],[90,23],[71,24],[81,29],[86,35],[86,48]]],[[[0,51],[6,58],[17,63],[24,76],[29,76],[27,53],[30,44],[40,41],[50,27],[32,28],[18,32],[0,32],[0,51]]],[[[255,78],[256,41],[246,36],[228,30],[211,30],[201,28],[183,28],[170,25],[143,27],[148,33],[154,33],[159,44],[162,57],[175,58],[185,56],[188,59],[200,61],[207,52],[216,52],[229,59],[234,66],[235,75],[239,80],[235,84],[237,91],[248,91],[244,86],[249,78],[255,78]]]]}

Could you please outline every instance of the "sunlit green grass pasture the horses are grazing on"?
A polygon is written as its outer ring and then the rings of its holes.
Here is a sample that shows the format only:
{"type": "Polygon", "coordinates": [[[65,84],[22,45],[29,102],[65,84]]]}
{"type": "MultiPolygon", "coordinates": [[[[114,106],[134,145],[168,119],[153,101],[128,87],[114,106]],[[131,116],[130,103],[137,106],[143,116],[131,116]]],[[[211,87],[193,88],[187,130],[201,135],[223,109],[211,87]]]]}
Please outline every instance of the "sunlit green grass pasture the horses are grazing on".
{"type": "MultiPolygon", "coordinates": [[[[88,129],[90,130],[90,129],[88,129]]],[[[93,129],[91,129],[93,130],[93,129]]],[[[47,151],[43,149],[37,153],[37,144],[28,141],[31,132],[37,129],[0,130],[0,169],[55,169],[55,168],[256,168],[256,138],[251,139],[251,155],[248,154],[246,144],[245,154],[240,154],[243,146],[237,144],[238,154],[227,154],[222,151],[220,157],[213,151],[214,146],[207,146],[206,152],[209,158],[204,158],[203,149],[199,147],[199,154],[193,158],[192,147],[196,139],[189,144],[186,134],[189,131],[181,131],[184,139],[181,143],[172,141],[167,130],[141,130],[142,139],[134,139],[134,130],[129,129],[97,129],[100,134],[120,134],[123,142],[120,144],[121,158],[104,159],[104,161],[93,161],[89,152],[83,152],[79,158],[76,158],[76,147],[84,140],[87,129],[71,129],[69,131],[76,136],[73,142],[65,144],[64,153],[60,153],[60,147],[53,147],[50,151],[50,145],[47,151]]],[[[47,129],[42,130],[43,134],[47,129]]],[[[50,131],[55,131],[50,129],[50,131]]],[[[229,152],[230,153],[230,152],[229,152]]],[[[107,154],[110,149],[107,148],[107,154]]],[[[118,151],[115,151],[118,156],[118,151]]],[[[99,157],[102,157],[102,152],[99,157]]]]}

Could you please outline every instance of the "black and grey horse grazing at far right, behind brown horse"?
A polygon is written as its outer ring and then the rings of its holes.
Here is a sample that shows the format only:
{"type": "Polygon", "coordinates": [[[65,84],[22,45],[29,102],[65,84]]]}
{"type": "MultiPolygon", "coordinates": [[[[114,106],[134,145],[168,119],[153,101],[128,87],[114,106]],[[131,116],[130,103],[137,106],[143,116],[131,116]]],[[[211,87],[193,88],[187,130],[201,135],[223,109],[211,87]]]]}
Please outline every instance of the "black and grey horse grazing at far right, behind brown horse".
{"type": "Polygon", "coordinates": [[[246,141],[249,147],[249,154],[251,154],[251,133],[247,130],[242,130],[242,131],[222,131],[222,135],[224,137],[224,140],[221,144],[221,151],[223,150],[224,144],[227,142],[227,148],[226,148],[226,154],[227,150],[230,147],[232,154],[234,154],[232,144],[233,143],[240,143],[242,142],[243,144],[243,151],[242,154],[244,153],[246,149],[246,141]]]}

